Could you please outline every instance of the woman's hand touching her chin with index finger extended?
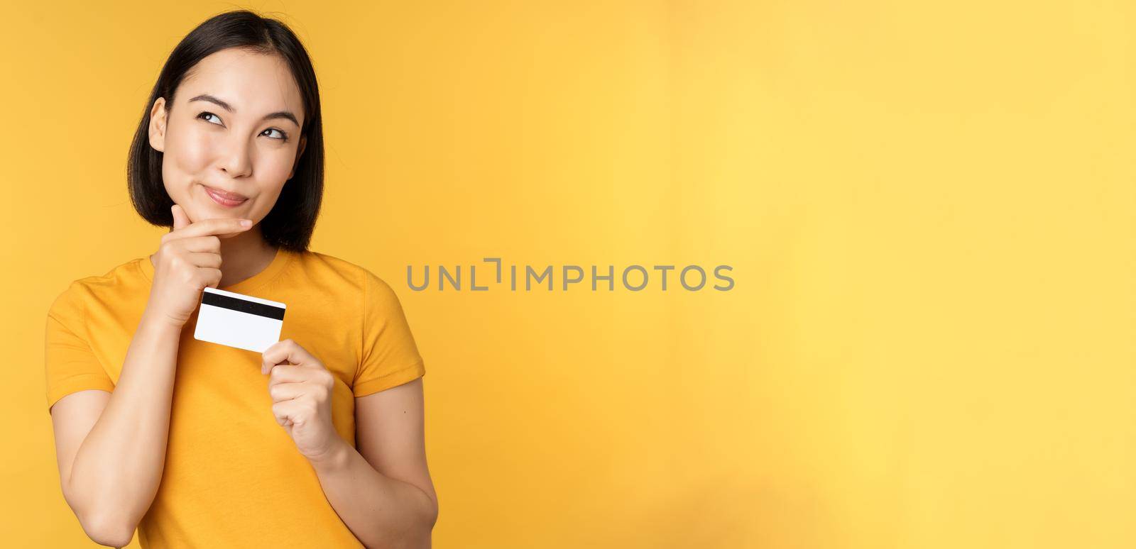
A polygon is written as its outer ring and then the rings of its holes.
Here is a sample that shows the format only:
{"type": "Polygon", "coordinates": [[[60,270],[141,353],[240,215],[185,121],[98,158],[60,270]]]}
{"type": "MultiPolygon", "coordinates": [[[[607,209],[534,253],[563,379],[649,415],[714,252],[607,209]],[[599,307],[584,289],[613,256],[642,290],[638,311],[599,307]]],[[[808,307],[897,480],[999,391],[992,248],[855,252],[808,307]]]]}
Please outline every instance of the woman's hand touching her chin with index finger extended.
{"type": "Polygon", "coordinates": [[[174,204],[170,211],[174,228],[161,236],[161,245],[153,254],[153,285],[147,313],[182,327],[197,310],[201,292],[220,282],[220,239],[248,230],[252,221],[234,218],[190,222],[182,206],[174,204]]]}

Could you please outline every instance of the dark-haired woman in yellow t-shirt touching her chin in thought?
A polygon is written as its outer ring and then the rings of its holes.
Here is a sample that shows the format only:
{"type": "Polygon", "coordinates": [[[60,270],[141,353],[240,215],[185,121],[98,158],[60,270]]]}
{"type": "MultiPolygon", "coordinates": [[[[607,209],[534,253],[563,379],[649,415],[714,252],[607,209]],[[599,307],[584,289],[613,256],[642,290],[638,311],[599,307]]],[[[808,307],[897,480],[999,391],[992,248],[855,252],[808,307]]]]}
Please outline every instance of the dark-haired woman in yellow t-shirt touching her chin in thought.
{"type": "Polygon", "coordinates": [[[307,250],[323,162],[285,25],[227,12],[170,53],[128,162],[134,208],[170,231],[47,321],[60,483],[94,541],[429,547],[423,358],[390,286],[307,250]],[[282,340],[194,339],[207,286],[285,303],[282,340]]]}

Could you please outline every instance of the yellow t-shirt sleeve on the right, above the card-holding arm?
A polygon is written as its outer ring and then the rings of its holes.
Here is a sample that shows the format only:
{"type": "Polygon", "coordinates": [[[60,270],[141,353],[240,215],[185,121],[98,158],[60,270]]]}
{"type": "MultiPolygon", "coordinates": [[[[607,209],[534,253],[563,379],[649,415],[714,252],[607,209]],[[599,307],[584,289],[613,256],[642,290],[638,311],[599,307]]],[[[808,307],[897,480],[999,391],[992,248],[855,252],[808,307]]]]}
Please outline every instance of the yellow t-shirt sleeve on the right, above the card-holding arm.
{"type": "Polygon", "coordinates": [[[362,349],[352,391],[362,397],[426,374],[402,304],[383,279],[364,276],[362,349]]]}

